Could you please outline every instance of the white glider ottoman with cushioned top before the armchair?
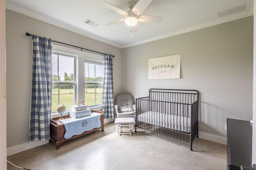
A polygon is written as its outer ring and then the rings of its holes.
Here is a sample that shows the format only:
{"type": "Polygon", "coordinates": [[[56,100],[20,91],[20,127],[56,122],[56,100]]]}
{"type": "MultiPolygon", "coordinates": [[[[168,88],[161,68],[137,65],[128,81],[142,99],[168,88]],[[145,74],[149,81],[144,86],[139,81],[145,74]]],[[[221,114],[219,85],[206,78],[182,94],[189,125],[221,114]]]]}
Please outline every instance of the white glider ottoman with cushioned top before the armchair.
{"type": "Polygon", "coordinates": [[[116,132],[118,135],[130,134],[134,132],[135,120],[133,117],[118,117],[115,120],[116,132]]]}

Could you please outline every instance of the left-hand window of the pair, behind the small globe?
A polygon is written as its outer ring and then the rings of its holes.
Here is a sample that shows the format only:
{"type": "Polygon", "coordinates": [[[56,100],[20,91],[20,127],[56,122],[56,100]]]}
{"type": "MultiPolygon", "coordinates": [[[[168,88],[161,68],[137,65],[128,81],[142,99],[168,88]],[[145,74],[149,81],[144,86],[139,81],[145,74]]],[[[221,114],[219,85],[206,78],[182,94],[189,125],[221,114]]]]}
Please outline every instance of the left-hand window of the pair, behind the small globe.
{"type": "Polygon", "coordinates": [[[75,55],[54,51],[52,54],[52,112],[65,104],[74,106],[76,94],[75,55]]]}

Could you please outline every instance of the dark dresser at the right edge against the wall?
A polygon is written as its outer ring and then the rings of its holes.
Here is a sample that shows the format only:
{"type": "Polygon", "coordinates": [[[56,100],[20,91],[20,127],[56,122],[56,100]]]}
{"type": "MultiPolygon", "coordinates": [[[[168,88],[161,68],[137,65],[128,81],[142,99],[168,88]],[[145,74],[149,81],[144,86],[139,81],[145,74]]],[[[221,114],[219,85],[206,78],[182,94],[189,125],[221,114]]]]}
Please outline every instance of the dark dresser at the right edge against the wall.
{"type": "Polygon", "coordinates": [[[250,121],[227,119],[227,169],[252,167],[252,124],[250,121]]]}

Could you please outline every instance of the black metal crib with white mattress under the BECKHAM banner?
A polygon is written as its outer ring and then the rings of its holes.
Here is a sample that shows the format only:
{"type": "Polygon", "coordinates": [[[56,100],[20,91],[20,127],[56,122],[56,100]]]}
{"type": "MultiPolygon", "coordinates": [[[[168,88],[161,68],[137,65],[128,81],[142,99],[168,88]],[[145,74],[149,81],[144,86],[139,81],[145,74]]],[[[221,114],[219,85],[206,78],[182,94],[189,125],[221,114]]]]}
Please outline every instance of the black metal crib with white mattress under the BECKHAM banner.
{"type": "Polygon", "coordinates": [[[149,90],[149,96],[136,99],[136,126],[190,142],[198,137],[197,90],[149,90]]]}

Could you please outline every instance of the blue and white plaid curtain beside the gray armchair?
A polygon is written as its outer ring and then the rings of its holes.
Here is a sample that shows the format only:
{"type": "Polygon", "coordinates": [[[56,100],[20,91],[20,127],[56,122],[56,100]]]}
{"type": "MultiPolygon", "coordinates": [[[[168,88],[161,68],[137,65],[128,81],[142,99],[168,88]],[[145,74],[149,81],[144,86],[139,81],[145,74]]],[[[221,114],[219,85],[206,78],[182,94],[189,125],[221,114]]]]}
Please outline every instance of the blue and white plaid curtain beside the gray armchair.
{"type": "Polygon", "coordinates": [[[114,119],[113,57],[105,54],[102,112],[105,118],[114,119]]]}

